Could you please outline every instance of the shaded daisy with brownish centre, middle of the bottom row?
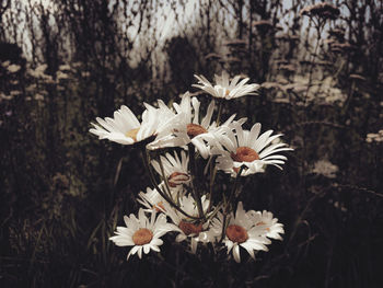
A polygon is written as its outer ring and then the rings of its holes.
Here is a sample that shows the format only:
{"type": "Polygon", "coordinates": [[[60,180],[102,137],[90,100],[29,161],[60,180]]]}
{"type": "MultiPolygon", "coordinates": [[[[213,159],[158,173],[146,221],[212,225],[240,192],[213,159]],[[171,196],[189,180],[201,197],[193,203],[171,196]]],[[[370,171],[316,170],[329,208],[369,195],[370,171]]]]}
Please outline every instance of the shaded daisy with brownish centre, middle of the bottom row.
{"type": "MultiPolygon", "coordinates": [[[[206,214],[210,201],[206,199],[206,196],[204,195],[201,197],[201,203],[204,214],[206,214]]],[[[174,210],[167,203],[164,204],[164,212],[172,219],[173,223],[178,227],[177,231],[179,234],[176,237],[175,241],[182,242],[186,239],[190,239],[193,253],[196,253],[198,242],[207,243],[212,240],[206,232],[209,222],[196,222],[179,214],[177,210],[174,210]]],[[[183,196],[179,199],[179,208],[193,217],[198,217],[197,204],[190,195],[183,196]]]]}

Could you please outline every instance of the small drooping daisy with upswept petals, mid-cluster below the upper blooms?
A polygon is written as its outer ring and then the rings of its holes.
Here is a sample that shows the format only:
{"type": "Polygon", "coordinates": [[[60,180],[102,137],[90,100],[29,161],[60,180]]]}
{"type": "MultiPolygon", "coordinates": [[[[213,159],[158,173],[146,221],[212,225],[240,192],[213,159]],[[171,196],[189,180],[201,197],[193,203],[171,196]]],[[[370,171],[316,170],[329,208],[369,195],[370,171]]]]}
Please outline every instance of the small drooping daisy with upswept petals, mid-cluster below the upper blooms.
{"type": "MultiPolygon", "coordinates": [[[[160,158],[165,177],[167,178],[167,183],[171,188],[182,188],[183,184],[188,184],[190,182],[190,174],[187,169],[189,158],[186,155],[185,151],[181,152],[181,160],[176,152],[174,152],[174,157],[166,153],[165,157],[161,155],[160,158]]],[[[151,163],[156,173],[162,175],[160,163],[155,160],[152,160],[151,163]]]]}

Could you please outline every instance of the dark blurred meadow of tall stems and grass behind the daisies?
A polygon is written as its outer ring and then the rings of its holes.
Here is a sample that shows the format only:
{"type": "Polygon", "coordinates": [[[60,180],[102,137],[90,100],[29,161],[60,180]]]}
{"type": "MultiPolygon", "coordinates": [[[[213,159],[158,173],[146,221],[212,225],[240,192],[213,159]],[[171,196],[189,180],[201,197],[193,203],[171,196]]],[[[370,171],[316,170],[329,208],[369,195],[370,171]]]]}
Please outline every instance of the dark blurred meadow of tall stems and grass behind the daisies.
{"type": "Polygon", "coordinates": [[[1,0],[0,286],[383,287],[383,2],[317,2],[1,0]],[[224,117],[294,148],[241,198],[283,241],[239,265],[170,237],[126,262],[108,238],[149,181],[90,123],[223,70],[262,85],[224,117]]]}

